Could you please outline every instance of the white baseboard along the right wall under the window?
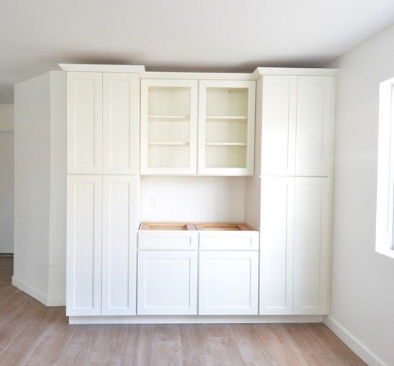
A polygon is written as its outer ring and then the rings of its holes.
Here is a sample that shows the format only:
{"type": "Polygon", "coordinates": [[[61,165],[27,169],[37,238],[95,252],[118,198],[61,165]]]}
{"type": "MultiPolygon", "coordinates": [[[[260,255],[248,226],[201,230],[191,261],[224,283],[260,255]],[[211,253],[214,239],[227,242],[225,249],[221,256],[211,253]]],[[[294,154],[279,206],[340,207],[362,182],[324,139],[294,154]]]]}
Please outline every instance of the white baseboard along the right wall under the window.
{"type": "Polygon", "coordinates": [[[347,330],[339,321],[330,317],[324,318],[324,324],[332,330],[358,357],[360,357],[369,366],[389,366],[369,348],[363,344],[357,337],[347,330]]]}

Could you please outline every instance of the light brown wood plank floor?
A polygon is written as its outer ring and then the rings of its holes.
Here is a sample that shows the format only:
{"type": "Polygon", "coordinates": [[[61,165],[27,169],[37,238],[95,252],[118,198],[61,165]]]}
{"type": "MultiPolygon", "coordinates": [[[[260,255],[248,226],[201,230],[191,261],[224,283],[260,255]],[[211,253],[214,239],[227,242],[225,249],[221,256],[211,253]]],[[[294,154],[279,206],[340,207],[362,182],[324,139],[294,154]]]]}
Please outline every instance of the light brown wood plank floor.
{"type": "Polygon", "coordinates": [[[365,365],[323,324],[70,326],[0,258],[0,365],[365,365]]]}

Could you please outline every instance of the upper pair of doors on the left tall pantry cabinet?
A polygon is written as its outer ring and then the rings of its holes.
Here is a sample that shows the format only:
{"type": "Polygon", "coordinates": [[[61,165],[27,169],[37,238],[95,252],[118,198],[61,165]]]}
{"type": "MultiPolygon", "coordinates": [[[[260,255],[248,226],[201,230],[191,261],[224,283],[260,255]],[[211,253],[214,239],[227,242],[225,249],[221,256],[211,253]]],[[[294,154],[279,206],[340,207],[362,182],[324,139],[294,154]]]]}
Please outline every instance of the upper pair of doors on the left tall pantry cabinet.
{"type": "Polygon", "coordinates": [[[140,77],[67,73],[68,173],[138,174],[140,77]]]}

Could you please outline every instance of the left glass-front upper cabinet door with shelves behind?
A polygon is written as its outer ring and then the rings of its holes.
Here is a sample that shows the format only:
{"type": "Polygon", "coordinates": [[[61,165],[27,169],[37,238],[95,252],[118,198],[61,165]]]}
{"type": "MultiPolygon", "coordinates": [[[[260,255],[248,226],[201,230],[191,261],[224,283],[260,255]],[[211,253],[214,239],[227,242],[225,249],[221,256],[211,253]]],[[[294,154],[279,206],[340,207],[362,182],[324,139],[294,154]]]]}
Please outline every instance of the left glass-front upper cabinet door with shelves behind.
{"type": "Polygon", "coordinates": [[[141,81],[141,174],[196,174],[196,80],[141,81]]]}

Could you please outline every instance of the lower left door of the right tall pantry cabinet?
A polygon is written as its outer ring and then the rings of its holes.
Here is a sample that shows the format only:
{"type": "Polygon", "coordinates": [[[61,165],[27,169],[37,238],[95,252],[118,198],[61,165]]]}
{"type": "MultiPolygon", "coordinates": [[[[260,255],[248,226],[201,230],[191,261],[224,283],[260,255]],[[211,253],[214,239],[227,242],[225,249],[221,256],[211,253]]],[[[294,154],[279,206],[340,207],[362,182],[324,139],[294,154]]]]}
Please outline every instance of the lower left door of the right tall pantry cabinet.
{"type": "Polygon", "coordinates": [[[261,180],[260,314],[293,314],[295,178],[261,180]]]}

